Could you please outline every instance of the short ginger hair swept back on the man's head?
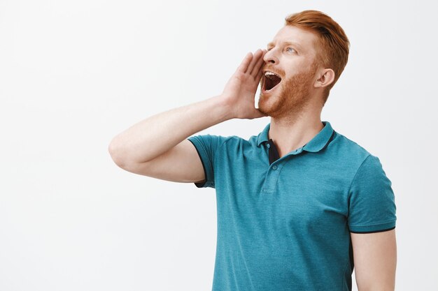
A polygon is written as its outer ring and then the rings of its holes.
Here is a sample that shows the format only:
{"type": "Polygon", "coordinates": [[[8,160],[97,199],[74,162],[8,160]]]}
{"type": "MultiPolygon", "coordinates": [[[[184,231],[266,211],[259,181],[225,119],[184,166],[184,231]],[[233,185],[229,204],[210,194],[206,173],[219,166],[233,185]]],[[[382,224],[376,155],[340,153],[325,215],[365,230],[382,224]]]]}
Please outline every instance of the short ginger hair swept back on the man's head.
{"type": "Polygon", "coordinates": [[[304,10],[285,18],[285,25],[306,29],[316,34],[316,62],[334,71],[334,80],[324,91],[323,103],[327,101],[330,89],[339,79],[348,61],[350,42],[337,22],[317,10],[304,10]]]}

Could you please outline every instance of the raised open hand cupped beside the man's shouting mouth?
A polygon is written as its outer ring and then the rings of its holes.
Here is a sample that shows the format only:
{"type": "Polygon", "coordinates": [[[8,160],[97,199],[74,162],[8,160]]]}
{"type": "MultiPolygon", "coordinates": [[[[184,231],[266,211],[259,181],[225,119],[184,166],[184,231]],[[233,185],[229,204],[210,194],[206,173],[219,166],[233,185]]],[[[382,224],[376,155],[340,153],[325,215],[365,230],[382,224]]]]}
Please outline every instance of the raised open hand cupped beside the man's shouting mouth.
{"type": "Polygon", "coordinates": [[[263,75],[263,57],[266,52],[267,50],[260,49],[256,50],[254,55],[248,52],[225,85],[222,97],[231,108],[233,118],[254,119],[267,116],[254,106],[255,92],[263,75]]]}

